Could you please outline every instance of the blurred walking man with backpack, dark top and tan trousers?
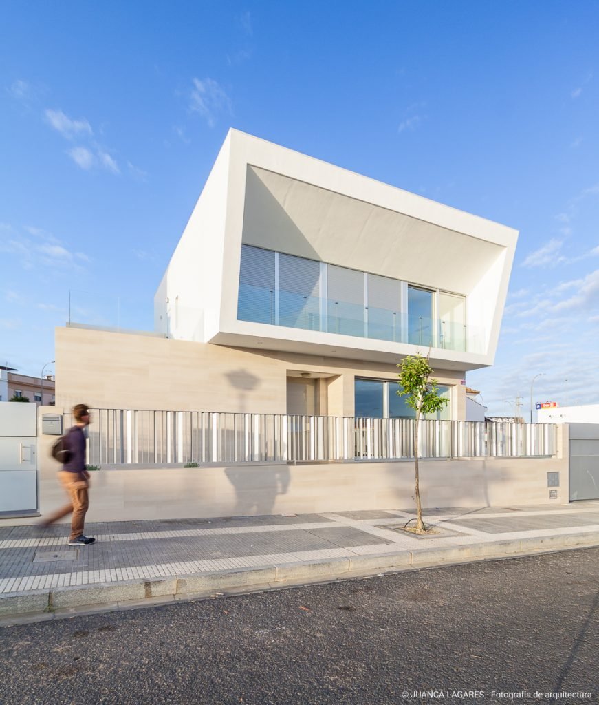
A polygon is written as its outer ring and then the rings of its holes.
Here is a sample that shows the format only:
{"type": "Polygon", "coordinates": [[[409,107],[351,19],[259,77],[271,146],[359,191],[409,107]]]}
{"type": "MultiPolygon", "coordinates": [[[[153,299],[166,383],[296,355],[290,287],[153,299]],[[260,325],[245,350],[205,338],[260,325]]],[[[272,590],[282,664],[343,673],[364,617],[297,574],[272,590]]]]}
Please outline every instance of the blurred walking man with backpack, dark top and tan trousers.
{"type": "Polygon", "coordinates": [[[96,541],[83,534],[85,513],[89,506],[89,472],[85,469],[84,434],[84,428],[89,425],[89,409],[85,404],[77,404],[72,409],[72,417],[75,419],[75,426],[64,437],[65,448],[69,451],[68,461],[58,472],[58,479],[68,494],[70,502],[52,514],[42,525],[49,527],[72,513],[69,546],[89,546],[96,541]]]}

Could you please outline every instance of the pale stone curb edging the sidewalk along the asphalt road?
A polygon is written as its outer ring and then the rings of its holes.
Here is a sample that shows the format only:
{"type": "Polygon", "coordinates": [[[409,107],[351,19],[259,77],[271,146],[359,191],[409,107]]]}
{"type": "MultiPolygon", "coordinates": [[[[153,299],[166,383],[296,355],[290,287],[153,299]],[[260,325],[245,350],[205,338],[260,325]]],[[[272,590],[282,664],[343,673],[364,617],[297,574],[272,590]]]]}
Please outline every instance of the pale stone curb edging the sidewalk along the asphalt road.
{"type": "Polygon", "coordinates": [[[450,548],[420,548],[324,558],[306,563],[281,563],[265,568],[237,568],[163,579],[124,580],[114,584],[0,594],[0,627],[592,546],[599,546],[599,532],[489,541],[450,548]]]}

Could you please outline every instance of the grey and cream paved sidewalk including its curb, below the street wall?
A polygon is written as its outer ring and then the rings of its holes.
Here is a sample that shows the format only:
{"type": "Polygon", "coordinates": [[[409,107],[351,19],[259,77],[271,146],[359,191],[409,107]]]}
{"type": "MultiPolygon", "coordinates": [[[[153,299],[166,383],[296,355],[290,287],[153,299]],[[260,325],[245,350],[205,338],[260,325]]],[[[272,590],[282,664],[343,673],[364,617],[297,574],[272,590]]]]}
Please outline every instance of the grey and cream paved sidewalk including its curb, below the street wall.
{"type": "Polygon", "coordinates": [[[411,510],[0,527],[0,626],[599,546],[599,502],[435,508],[434,538],[398,531],[411,510]]]}

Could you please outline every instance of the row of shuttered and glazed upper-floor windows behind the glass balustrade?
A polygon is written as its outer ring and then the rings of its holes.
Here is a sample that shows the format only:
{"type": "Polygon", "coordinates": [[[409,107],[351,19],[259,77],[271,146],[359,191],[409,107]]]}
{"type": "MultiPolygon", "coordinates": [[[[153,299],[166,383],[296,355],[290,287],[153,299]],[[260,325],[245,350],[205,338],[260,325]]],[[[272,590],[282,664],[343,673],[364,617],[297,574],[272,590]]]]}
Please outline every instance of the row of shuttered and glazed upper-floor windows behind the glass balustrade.
{"type": "Polygon", "coordinates": [[[253,245],[241,246],[237,318],[468,350],[464,296],[253,245]]]}

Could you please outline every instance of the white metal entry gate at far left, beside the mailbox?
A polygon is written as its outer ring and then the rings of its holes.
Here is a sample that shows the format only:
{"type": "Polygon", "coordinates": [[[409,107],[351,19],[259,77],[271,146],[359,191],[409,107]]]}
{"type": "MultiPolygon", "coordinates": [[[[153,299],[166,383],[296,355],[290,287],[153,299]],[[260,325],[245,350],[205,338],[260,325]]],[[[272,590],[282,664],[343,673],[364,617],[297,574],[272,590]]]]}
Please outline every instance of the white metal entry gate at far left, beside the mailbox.
{"type": "Polygon", "coordinates": [[[37,405],[0,402],[0,517],[37,508],[37,405]]]}

